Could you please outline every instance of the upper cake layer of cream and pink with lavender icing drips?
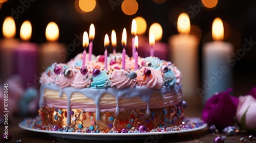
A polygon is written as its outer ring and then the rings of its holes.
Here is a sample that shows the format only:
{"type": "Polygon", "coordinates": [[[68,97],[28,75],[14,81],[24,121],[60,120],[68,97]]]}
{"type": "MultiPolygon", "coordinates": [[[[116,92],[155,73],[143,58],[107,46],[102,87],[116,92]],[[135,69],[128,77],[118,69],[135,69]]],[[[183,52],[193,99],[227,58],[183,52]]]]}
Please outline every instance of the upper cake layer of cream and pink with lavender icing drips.
{"type": "MultiPolygon", "coordinates": [[[[173,87],[164,86],[161,89],[151,89],[144,86],[135,88],[115,87],[92,89],[82,88],[75,89],[66,87],[61,89],[54,84],[45,84],[40,88],[39,107],[43,104],[49,107],[66,108],[82,108],[86,111],[96,112],[96,120],[100,120],[100,112],[122,112],[136,107],[137,109],[146,109],[146,113],[150,114],[151,108],[163,108],[175,106],[181,102],[182,92],[181,86],[173,87]]],[[[68,125],[69,123],[68,112],[68,125]]]]}

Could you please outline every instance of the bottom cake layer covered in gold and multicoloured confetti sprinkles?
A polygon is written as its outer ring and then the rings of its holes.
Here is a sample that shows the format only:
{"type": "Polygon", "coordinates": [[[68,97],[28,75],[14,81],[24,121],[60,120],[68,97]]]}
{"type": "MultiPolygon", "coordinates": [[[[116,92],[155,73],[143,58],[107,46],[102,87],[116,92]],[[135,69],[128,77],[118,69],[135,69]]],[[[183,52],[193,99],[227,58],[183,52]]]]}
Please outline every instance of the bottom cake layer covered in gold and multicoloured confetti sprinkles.
{"type": "Polygon", "coordinates": [[[170,127],[180,124],[184,117],[182,104],[165,108],[151,109],[151,114],[146,109],[130,109],[123,112],[100,112],[100,120],[96,120],[96,113],[84,109],[50,108],[46,105],[39,109],[42,124],[53,125],[57,128],[74,127],[75,130],[84,132],[109,132],[129,131],[144,127],[150,131],[157,127],[170,127]],[[68,119],[70,112],[70,119],[68,119]],[[68,125],[68,121],[70,124],[68,125]]]}

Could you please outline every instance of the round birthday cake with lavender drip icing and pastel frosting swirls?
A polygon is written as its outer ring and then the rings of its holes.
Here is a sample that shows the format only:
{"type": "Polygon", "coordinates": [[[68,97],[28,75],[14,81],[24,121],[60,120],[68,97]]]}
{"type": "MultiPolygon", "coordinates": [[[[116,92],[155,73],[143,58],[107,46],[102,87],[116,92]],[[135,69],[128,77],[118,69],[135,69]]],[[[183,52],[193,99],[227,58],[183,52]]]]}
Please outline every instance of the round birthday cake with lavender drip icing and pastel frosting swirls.
{"type": "Polygon", "coordinates": [[[87,59],[82,54],[68,63],[53,63],[41,74],[39,117],[51,130],[74,132],[150,132],[180,124],[184,118],[181,73],[171,62],[157,57],[122,54],[87,59]]]}

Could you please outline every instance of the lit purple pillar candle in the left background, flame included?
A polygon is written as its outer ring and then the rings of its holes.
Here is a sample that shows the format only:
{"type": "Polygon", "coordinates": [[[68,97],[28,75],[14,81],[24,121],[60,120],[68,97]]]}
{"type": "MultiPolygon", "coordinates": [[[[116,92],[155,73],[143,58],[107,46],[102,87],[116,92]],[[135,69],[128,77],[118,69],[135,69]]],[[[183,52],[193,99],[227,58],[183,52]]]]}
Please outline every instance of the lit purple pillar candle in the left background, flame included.
{"type": "Polygon", "coordinates": [[[14,51],[14,74],[18,74],[23,79],[24,87],[37,87],[37,54],[38,46],[29,42],[32,33],[31,23],[26,20],[20,28],[20,38],[24,42],[20,43],[14,51]]]}

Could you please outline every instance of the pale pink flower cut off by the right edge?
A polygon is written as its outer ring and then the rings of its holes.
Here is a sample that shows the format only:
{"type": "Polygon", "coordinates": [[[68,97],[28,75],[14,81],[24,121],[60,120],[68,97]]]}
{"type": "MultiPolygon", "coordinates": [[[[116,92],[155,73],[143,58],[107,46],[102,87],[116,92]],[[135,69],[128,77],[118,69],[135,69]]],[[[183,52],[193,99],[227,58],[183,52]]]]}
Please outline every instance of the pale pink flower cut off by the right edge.
{"type": "Polygon", "coordinates": [[[256,132],[256,99],[251,95],[240,96],[237,108],[237,120],[242,129],[256,132]]]}

